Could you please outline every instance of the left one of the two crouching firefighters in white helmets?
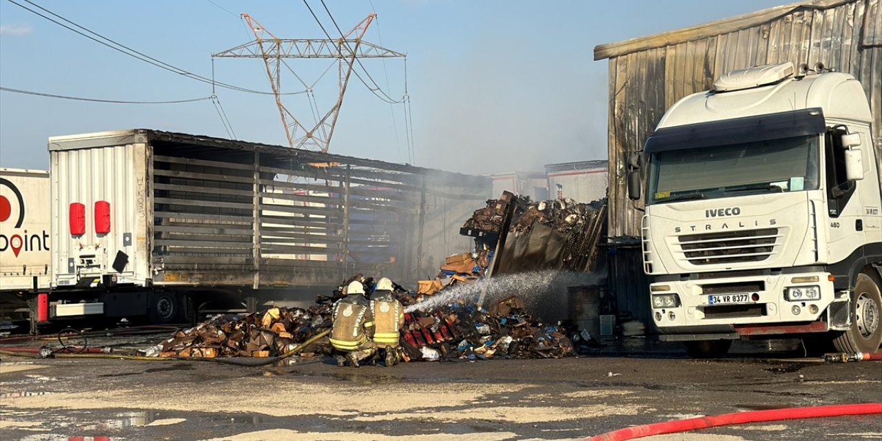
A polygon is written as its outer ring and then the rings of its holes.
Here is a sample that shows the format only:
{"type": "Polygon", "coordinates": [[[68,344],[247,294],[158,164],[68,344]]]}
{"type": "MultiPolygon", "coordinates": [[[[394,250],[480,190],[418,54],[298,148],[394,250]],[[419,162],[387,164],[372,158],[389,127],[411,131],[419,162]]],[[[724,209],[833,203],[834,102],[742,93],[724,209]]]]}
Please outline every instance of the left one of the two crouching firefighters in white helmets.
{"type": "Polygon", "coordinates": [[[338,366],[348,363],[357,368],[360,361],[377,354],[377,347],[370,339],[374,318],[361,282],[349,283],[344,295],[333,305],[331,346],[345,354],[337,356],[338,366]]]}

